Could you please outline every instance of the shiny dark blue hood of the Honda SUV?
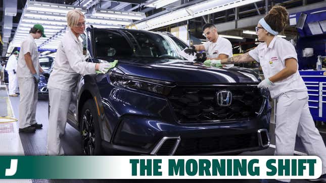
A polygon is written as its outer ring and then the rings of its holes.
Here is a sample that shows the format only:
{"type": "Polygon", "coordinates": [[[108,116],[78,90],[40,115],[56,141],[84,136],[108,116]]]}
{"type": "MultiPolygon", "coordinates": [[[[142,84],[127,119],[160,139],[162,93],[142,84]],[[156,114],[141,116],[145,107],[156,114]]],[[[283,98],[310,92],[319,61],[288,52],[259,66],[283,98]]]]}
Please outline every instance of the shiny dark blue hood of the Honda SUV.
{"type": "MultiPolygon", "coordinates": [[[[258,75],[250,69],[220,69],[202,63],[157,58],[118,59],[117,69],[126,75],[176,83],[258,83],[258,75]]],[[[113,62],[113,60],[107,60],[113,62]]]]}

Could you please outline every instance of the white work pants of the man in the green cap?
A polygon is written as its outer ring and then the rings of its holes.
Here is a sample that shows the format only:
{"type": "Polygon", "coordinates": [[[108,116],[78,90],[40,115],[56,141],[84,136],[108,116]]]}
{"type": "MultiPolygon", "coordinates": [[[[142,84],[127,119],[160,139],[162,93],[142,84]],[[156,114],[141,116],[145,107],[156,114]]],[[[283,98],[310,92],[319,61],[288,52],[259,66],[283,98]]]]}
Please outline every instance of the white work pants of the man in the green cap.
{"type": "Polygon", "coordinates": [[[19,128],[36,124],[37,84],[33,78],[18,78],[20,88],[19,128]]]}

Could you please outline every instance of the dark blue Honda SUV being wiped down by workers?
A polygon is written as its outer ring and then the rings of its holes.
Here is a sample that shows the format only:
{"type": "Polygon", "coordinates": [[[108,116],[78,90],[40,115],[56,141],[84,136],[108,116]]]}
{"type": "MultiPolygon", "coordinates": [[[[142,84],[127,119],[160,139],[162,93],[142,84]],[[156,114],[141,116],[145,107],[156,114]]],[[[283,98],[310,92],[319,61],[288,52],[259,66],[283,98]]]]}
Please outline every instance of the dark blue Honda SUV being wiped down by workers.
{"type": "MultiPolygon", "coordinates": [[[[87,28],[88,62],[119,60],[80,76],[68,123],[86,155],[215,155],[269,146],[269,94],[249,69],[219,69],[179,55],[168,34],[87,28]]],[[[51,104],[50,104],[51,106],[51,104]]]]}

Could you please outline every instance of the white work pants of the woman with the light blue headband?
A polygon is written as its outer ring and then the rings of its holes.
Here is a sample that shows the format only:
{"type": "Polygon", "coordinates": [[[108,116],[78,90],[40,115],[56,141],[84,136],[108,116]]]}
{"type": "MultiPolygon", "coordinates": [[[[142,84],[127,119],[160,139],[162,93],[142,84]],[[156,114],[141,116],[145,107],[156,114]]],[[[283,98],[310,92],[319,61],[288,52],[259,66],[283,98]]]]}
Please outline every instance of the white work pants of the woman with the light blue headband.
{"type": "Polygon", "coordinates": [[[326,173],[326,148],[310,114],[307,93],[286,92],[278,97],[276,106],[275,155],[292,156],[297,134],[308,155],[321,159],[322,174],[326,173]]]}

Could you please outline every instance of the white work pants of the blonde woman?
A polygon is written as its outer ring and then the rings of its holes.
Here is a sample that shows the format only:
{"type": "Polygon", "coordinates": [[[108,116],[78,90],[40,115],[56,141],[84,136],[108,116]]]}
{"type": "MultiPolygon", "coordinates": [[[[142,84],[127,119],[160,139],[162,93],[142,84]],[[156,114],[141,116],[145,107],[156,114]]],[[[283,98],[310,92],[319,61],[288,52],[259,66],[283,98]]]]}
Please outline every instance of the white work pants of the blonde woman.
{"type": "Polygon", "coordinates": [[[60,136],[65,132],[71,92],[49,88],[49,99],[51,108],[46,153],[49,155],[64,155],[60,136]]]}

